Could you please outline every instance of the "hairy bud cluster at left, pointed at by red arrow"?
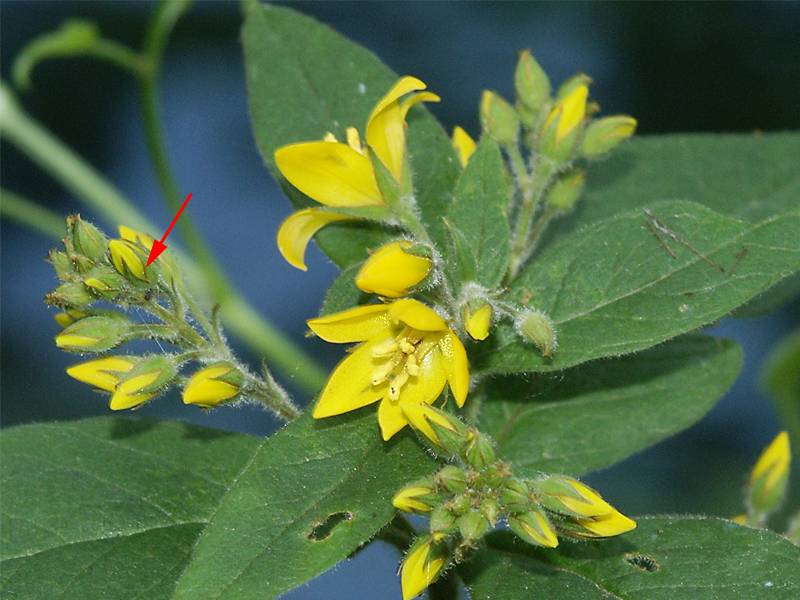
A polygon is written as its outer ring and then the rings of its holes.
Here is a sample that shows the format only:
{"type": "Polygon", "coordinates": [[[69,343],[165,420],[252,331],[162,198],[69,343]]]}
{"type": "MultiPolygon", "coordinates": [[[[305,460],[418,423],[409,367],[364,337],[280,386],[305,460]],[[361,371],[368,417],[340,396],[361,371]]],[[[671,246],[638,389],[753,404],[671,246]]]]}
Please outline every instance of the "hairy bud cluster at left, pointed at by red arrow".
{"type": "Polygon", "coordinates": [[[162,349],[158,354],[98,356],[67,368],[74,379],[108,393],[111,410],[137,408],[179,383],[184,403],[203,408],[246,395],[277,395],[288,402],[271,377],[254,377],[235,361],[217,325],[188,296],[169,251],[147,266],[153,245],[148,235],[121,226],[120,237],[109,240],[78,215],[66,222],[64,249],[48,257],[60,282],[45,297],[62,310],[55,315],[62,327],[56,346],[100,355],[150,339],[162,349]],[[193,307],[188,314],[187,306],[193,307]],[[145,320],[133,319],[134,310],[145,320]],[[200,366],[182,378],[181,369],[190,363],[200,366]]]}

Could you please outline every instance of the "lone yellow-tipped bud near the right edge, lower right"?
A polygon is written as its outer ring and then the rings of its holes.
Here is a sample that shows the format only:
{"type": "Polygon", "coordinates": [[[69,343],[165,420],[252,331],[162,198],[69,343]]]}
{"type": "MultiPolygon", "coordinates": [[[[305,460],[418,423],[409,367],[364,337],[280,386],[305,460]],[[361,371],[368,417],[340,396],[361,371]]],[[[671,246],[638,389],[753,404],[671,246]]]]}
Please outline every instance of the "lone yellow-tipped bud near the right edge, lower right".
{"type": "Polygon", "coordinates": [[[750,474],[747,498],[753,512],[767,515],[786,497],[792,454],[789,434],[779,433],[758,457],[750,474]]]}

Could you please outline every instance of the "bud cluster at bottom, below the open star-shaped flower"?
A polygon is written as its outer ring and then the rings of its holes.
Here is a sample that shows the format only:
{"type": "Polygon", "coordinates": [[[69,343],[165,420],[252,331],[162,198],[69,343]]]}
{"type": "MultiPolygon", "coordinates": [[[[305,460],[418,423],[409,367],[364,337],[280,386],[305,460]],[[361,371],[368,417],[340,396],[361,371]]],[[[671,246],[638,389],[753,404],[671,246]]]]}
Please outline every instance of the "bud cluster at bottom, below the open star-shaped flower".
{"type": "Polygon", "coordinates": [[[429,518],[429,532],[417,538],[403,562],[404,597],[417,595],[448,564],[463,560],[498,523],[545,548],[558,546],[560,537],[604,538],[636,527],[577,479],[514,476],[511,465],[497,457],[492,439],[454,415],[423,406],[419,414],[409,413],[409,420],[449,462],[409,483],[392,500],[398,510],[429,518]]]}

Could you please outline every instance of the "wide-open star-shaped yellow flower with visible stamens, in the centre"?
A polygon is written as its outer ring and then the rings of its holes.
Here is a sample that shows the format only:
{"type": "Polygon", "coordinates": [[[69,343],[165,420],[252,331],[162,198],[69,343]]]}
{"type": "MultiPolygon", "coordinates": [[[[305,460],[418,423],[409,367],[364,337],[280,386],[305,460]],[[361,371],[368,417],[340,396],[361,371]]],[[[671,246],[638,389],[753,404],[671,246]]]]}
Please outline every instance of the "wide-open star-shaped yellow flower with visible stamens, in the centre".
{"type": "Polygon", "coordinates": [[[357,306],[308,321],[322,339],[363,342],[331,374],[314,408],[317,419],[381,400],[378,423],[388,440],[408,424],[407,405],[430,404],[449,383],[458,406],[469,391],[469,363],[458,336],[417,300],[357,306]]]}

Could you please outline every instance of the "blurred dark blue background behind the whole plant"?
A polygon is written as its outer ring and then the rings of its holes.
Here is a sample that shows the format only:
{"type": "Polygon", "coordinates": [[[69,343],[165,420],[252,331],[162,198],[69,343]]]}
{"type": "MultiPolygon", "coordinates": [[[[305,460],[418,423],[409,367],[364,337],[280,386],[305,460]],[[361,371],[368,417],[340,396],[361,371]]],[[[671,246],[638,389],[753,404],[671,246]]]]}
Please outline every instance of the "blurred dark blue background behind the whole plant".
{"type": "MultiPolygon", "coordinates": [[[[512,73],[522,48],[533,50],[554,81],[576,71],[590,74],[603,112],[636,116],[641,134],[800,128],[800,3],[292,6],[370,48],[395,71],[428,82],[443,97],[432,110],[448,130],[461,124],[478,133],[482,89],[513,97],[512,73]]],[[[70,17],[92,19],[104,36],[138,48],[153,8],[150,2],[6,0],[0,36],[3,79],[9,81],[13,58],[26,42],[70,17]]],[[[339,349],[303,334],[304,319],[316,314],[335,269],[314,250],[309,272],[301,273],[274,246],[289,204],[264,169],[250,132],[239,27],[234,2],[198,2],[179,22],[162,77],[169,153],[184,192],[194,192],[189,210],[231,278],[282,331],[332,366],[339,349]]],[[[171,213],[150,169],[136,83],[129,74],[89,59],[54,60],[37,67],[33,87],[20,101],[135,199],[148,217],[168,223],[171,213]]],[[[59,214],[80,210],[74,198],[5,143],[2,184],[59,214]]],[[[57,326],[41,302],[54,283],[43,260],[52,245],[39,234],[2,223],[3,426],[108,414],[102,397],[64,374],[75,357],[52,342],[57,326]]],[[[726,319],[715,326],[712,333],[735,338],[745,349],[736,385],[701,423],[592,475],[590,483],[628,514],[739,512],[746,473],[779,428],[759,386],[760,369],[770,349],[798,326],[797,300],[769,316],[726,319]]],[[[239,350],[256,364],[258,357],[239,350]]],[[[282,375],[292,388],[291,375],[282,375]]],[[[261,435],[277,426],[257,409],[203,413],[184,407],[175,394],[140,414],[261,435]]],[[[795,474],[791,504],[799,501],[795,474]]],[[[318,597],[321,590],[329,594],[334,588],[341,597],[358,596],[359,590],[393,593],[395,561],[386,549],[370,549],[355,566],[326,574],[291,595],[318,597]],[[370,568],[358,568],[364,564],[370,568]],[[387,574],[379,582],[372,575],[377,569],[387,574]]]]}

